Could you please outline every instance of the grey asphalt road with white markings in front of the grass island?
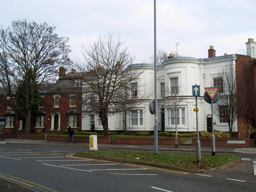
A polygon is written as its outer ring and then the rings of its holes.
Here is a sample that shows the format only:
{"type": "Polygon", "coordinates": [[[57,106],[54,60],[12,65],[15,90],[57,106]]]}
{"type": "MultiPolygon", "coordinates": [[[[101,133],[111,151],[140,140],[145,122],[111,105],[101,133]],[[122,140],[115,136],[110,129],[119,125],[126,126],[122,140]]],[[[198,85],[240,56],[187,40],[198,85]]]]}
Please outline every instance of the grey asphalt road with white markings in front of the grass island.
{"type": "Polygon", "coordinates": [[[256,155],[241,165],[205,174],[90,160],[71,156],[83,148],[6,144],[0,178],[35,191],[256,191],[256,155]]]}

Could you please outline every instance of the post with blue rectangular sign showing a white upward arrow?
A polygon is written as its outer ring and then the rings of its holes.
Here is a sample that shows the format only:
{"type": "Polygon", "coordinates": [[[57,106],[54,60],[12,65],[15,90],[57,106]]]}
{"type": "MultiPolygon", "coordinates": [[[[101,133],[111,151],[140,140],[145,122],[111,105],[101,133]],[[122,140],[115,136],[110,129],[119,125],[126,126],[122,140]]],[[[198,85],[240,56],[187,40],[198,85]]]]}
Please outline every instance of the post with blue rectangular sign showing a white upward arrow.
{"type": "Polygon", "coordinates": [[[201,163],[201,144],[199,140],[199,130],[198,130],[198,111],[199,109],[197,108],[197,96],[200,96],[200,85],[193,85],[192,86],[192,93],[193,96],[196,96],[196,108],[194,108],[194,112],[196,112],[196,163],[200,164],[201,163]]]}

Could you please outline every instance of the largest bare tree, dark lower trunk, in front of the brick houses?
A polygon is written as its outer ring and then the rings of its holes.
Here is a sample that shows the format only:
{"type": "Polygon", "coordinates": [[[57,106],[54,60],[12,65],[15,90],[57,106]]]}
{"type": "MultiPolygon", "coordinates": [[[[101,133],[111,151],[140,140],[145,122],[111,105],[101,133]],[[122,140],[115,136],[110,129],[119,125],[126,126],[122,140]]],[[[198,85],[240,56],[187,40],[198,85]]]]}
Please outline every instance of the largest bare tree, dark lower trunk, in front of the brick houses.
{"type": "Polygon", "coordinates": [[[46,23],[19,20],[0,31],[0,83],[10,98],[9,106],[26,119],[26,133],[40,85],[51,82],[60,65],[70,63],[68,38],[59,37],[54,30],[46,23]]]}

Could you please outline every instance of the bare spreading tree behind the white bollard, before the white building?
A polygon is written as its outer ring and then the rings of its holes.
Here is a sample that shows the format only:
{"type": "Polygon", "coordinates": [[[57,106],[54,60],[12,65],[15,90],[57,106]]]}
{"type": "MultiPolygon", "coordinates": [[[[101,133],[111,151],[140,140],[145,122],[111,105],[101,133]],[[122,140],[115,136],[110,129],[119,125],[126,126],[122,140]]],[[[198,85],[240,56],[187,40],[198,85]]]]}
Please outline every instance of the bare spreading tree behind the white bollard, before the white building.
{"type": "MultiPolygon", "coordinates": [[[[108,115],[125,112],[143,102],[140,90],[141,66],[132,65],[133,57],[124,42],[99,36],[82,49],[85,65],[77,65],[83,80],[83,111],[101,118],[104,135],[108,136],[108,115]]],[[[142,85],[141,85],[142,86],[142,85]]]]}

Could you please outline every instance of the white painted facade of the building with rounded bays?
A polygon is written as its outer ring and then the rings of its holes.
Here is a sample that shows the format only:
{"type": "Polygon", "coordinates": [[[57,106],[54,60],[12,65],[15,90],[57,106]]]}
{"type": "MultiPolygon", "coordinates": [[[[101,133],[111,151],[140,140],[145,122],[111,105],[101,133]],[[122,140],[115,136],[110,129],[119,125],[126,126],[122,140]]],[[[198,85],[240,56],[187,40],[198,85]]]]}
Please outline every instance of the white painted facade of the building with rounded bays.
{"type": "MultiPolygon", "coordinates": [[[[173,114],[171,112],[172,102],[168,97],[171,81],[177,80],[179,86],[178,98],[182,101],[179,109],[178,132],[196,132],[196,108],[195,97],[192,96],[192,85],[200,85],[200,95],[197,97],[198,127],[199,131],[207,130],[207,118],[211,118],[211,105],[204,101],[204,88],[213,86],[213,78],[219,76],[223,66],[235,66],[236,55],[224,55],[207,59],[196,59],[194,57],[172,57],[162,65],[157,66],[157,96],[158,96],[158,130],[175,131],[173,114]],[[165,97],[161,97],[161,84],[165,84],[165,97]],[[164,120],[164,121],[163,121],[164,120]]],[[[134,64],[133,67],[141,67],[134,64]]],[[[154,99],[154,65],[143,64],[145,69],[138,79],[138,96],[140,91],[147,91],[150,96],[143,104],[138,105],[127,112],[126,119],[123,113],[109,116],[109,130],[131,130],[131,131],[153,131],[154,115],[149,112],[149,100],[154,99]],[[140,87],[144,85],[143,87],[140,87]],[[137,114],[136,114],[137,111],[137,114]],[[137,117],[137,119],[136,119],[137,117]],[[126,126],[125,126],[126,124],[126,126]]],[[[178,122],[178,121],[177,121],[178,122]]],[[[219,123],[219,119],[213,116],[214,128],[216,130],[229,131],[227,123],[219,123]]],[[[98,115],[94,115],[95,130],[102,130],[98,115]]],[[[85,115],[82,119],[82,130],[90,130],[90,117],[85,115]]],[[[233,131],[237,131],[237,123],[233,124],[233,131]]]]}

